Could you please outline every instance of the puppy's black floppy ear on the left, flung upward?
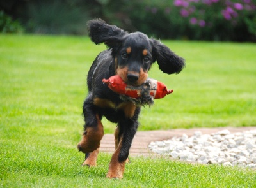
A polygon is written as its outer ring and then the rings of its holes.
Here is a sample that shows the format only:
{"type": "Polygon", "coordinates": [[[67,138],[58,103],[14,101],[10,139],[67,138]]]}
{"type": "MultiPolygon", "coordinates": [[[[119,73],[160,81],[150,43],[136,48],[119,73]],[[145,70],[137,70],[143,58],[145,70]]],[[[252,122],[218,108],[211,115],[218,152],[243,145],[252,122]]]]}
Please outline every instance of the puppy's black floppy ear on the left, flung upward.
{"type": "Polygon", "coordinates": [[[115,47],[126,34],[124,30],[115,25],[108,25],[101,19],[88,22],[88,33],[93,43],[96,45],[105,43],[108,47],[115,47]]]}

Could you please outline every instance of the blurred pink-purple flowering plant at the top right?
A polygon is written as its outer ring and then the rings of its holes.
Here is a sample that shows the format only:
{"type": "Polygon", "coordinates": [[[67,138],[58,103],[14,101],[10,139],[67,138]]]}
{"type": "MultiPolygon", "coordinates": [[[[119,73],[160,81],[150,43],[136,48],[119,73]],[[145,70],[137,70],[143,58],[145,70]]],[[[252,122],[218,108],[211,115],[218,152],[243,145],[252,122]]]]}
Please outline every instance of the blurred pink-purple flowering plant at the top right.
{"type": "Polygon", "coordinates": [[[174,5],[191,25],[199,27],[212,27],[214,21],[221,19],[237,25],[246,13],[256,10],[252,0],[175,0],[174,5]]]}

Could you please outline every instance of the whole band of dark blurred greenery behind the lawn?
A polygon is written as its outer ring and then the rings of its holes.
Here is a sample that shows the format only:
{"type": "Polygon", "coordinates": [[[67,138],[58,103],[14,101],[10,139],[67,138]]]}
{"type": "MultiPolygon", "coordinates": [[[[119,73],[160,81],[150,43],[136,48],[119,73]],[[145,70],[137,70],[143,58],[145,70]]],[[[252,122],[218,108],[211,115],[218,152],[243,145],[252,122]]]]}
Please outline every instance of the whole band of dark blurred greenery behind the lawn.
{"type": "Polygon", "coordinates": [[[256,0],[0,0],[2,33],[86,34],[102,18],[178,40],[256,41],[256,0]]]}

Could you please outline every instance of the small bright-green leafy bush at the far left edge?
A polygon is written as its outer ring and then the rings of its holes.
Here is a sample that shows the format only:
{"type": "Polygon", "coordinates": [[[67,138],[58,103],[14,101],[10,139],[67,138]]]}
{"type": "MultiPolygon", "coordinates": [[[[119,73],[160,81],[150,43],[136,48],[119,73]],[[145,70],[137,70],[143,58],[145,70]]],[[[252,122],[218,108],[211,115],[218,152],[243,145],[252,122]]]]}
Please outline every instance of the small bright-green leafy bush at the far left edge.
{"type": "Polygon", "coordinates": [[[20,22],[0,11],[0,32],[1,33],[22,33],[23,28],[20,22]]]}

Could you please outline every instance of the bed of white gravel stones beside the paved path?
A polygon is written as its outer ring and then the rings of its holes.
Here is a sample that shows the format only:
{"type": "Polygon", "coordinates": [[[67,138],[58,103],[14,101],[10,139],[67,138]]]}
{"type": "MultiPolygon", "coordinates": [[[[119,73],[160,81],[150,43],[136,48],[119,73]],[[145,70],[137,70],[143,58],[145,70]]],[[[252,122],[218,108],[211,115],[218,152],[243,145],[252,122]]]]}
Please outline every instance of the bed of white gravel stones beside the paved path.
{"type": "Polygon", "coordinates": [[[234,134],[226,129],[211,135],[196,131],[190,137],[183,134],[151,142],[148,148],[157,154],[195,163],[256,168],[256,129],[234,134]]]}

